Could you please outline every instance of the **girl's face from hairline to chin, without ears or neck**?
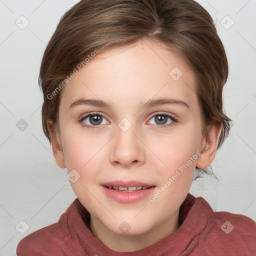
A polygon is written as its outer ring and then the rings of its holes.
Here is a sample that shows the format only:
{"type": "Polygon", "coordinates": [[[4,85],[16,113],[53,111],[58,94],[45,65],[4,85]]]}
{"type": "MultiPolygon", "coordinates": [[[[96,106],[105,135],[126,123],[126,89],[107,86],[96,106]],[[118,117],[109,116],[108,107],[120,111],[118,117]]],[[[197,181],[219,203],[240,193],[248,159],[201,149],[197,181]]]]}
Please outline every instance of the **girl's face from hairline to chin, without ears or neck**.
{"type": "Polygon", "coordinates": [[[68,82],[64,164],[95,226],[140,235],[177,220],[201,150],[200,118],[186,61],[150,40],[99,52],[68,82]]]}

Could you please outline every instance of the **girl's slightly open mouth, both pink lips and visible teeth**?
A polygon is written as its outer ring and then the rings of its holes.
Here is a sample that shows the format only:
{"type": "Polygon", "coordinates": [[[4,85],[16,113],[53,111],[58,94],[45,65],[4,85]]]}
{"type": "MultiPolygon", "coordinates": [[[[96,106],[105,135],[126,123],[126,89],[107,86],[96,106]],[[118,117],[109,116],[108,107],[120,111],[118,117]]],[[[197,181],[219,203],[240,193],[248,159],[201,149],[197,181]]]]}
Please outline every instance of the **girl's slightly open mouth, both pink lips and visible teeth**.
{"type": "Polygon", "coordinates": [[[112,181],[101,184],[105,195],[119,203],[138,202],[152,193],[155,185],[139,181],[112,181]]]}

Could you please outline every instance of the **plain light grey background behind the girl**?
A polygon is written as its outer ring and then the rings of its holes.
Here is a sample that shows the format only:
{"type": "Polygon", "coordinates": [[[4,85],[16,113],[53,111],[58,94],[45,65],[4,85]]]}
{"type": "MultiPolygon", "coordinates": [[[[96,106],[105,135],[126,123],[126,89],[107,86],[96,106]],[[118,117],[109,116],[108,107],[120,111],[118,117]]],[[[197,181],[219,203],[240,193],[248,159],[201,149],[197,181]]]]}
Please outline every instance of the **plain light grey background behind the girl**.
{"type": "MultiPolygon", "coordinates": [[[[58,221],[76,198],[43,135],[37,86],[45,45],[61,15],[76,2],[0,0],[0,255],[15,255],[21,238],[58,221]],[[29,21],[23,29],[15,23],[25,24],[21,15],[29,21]]],[[[256,220],[256,0],[199,3],[212,15],[227,52],[224,105],[233,126],[212,163],[220,182],[198,179],[190,193],[204,197],[215,211],[256,220]]]]}

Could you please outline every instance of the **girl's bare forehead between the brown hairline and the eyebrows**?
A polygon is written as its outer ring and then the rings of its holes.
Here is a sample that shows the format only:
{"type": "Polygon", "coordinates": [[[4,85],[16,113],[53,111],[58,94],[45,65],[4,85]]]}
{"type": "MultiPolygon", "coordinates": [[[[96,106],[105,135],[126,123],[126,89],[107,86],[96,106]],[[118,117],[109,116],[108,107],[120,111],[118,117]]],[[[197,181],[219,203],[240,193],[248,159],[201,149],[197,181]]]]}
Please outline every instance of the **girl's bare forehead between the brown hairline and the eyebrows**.
{"type": "Polygon", "coordinates": [[[97,53],[63,88],[61,102],[93,97],[107,101],[129,98],[134,104],[142,97],[146,100],[166,93],[191,101],[196,96],[193,72],[166,45],[140,40],[97,53]]]}

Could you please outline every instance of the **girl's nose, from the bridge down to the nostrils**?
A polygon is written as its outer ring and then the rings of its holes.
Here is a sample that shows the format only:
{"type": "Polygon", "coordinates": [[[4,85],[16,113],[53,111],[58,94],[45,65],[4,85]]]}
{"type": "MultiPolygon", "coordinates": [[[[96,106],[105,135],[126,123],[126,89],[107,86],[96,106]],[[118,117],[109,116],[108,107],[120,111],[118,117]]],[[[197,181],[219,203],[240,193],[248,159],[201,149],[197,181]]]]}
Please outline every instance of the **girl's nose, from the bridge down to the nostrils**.
{"type": "Polygon", "coordinates": [[[145,161],[143,144],[134,134],[131,126],[127,131],[116,127],[116,135],[112,139],[109,160],[122,167],[140,166],[145,161]]]}

